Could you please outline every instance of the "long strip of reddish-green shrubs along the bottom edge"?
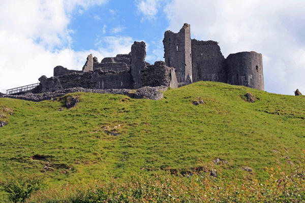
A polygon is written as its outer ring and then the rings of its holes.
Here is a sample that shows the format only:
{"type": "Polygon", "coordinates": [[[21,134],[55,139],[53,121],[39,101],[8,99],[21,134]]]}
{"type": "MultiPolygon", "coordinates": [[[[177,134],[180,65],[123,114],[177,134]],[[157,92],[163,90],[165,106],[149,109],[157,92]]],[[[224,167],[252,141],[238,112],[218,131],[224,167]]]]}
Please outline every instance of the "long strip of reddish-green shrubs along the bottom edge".
{"type": "Polygon", "coordinates": [[[215,178],[205,172],[190,177],[139,174],[119,180],[54,187],[34,194],[26,202],[304,202],[303,170],[297,167],[286,174],[280,167],[277,171],[269,168],[264,182],[249,176],[238,180],[220,174],[221,177],[215,178]]]}

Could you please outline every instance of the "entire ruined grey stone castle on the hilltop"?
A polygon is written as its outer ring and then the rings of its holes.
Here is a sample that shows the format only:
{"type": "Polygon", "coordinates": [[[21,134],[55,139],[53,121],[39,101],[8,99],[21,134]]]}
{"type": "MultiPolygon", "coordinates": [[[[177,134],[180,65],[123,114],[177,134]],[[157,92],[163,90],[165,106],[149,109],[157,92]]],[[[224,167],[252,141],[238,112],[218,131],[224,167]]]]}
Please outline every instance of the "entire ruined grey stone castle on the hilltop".
{"type": "Polygon", "coordinates": [[[262,54],[239,52],[227,58],[214,41],[191,39],[185,23],[178,33],[164,33],[164,61],[145,61],[146,45],[134,42],[129,54],[106,57],[90,54],[82,71],[54,68],[54,77],[39,78],[36,93],[72,87],[87,89],[138,89],[145,86],[177,88],[197,81],[216,81],[264,90],[262,54]]]}

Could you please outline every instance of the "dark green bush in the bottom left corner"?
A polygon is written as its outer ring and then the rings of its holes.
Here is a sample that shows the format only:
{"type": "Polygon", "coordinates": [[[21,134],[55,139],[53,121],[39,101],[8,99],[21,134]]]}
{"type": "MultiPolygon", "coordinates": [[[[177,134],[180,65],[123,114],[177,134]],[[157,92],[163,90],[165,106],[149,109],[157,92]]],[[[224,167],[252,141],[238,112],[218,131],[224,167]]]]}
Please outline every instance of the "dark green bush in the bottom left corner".
{"type": "Polygon", "coordinates": [[[29,177],[19,175],[9,177],[7,181],[1,182],[1,187],[8,193],[8,199],[12,202],[24,202],[34,192],[45,187],[41,177],[29,177]]]}

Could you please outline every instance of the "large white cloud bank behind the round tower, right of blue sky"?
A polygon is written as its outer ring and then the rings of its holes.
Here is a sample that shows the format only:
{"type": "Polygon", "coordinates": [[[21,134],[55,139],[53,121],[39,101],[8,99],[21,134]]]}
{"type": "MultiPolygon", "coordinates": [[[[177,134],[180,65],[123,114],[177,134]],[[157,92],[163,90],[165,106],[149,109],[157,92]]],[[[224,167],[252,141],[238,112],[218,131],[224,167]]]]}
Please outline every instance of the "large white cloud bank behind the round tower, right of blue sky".
{"type": "Polygon", "coordinates": [[[191,24],[192,38],[218,41],[224,56],[241,51],[263,54],[265,90],[305,92],[304,1],[175,0],[165,13],[169,29],[191,24]]]}

